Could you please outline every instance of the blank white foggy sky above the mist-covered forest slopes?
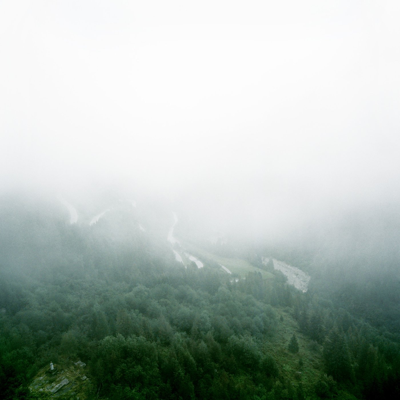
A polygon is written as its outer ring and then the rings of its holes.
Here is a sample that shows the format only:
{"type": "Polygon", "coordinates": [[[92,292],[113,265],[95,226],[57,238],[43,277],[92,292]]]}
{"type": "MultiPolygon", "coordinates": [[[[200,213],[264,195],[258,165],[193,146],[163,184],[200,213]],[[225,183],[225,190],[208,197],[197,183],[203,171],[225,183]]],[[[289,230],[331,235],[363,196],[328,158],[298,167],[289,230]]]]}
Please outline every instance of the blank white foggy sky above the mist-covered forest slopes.
{"type": "Polygon", "coordinates": [[[382,0],[1,1],[1,182],[394,196],[399,20],[382,0]]]}

